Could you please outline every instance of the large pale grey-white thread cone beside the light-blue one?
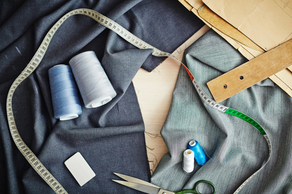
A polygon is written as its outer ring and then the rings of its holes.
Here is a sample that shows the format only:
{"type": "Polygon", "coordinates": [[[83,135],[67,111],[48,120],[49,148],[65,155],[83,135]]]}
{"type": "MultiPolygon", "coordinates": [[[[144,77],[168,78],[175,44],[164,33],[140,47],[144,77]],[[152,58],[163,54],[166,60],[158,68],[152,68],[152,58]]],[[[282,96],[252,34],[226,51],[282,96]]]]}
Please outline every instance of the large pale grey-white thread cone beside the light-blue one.
{"type": "Polygon", "coordinates": [[[74,56],[69,64],[86,108],[102,106],[117,95],[93,51],[74,56]]]}

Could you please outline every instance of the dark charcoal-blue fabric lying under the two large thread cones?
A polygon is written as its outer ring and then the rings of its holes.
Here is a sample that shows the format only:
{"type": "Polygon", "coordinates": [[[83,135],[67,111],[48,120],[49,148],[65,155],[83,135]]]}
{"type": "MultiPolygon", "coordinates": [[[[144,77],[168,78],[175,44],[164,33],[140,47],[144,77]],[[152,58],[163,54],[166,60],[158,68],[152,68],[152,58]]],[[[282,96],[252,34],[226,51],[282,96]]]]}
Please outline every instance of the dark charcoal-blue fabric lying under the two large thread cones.
{"type": "MultiPolygon", "coordinates": [[[[45,34],[69,11],[89,8],[109,16],[149,44],[173,51],[203,23],[177,0],[2,0],[0,2],[0,188],[2,193],[54,193],[12,141],[6,97],[45,34]],[[183,21],[183,22],[182,22],[183,21]],[[180,35],[177,35],[180,34],[180,35]],[[166,41],[171,40],[171,41],[166,41]]],[[[55,33],[37,70],[17,88],[13,109],[20,136],[68,193],[139,193],[110,179],[113,172],[149,181],[144,123],[131,82],[143,66],[151,71],[163,60],[140,50],[93,19],[68,18],[55,33]],[[93,50],[117,96],[86,109],[73,120],[54,118],[48,69],[93,50]],[[79,151],[96,177],[80,187],[64,162],[79,151]]],[[[81,99],[81,98],[80,98],[81,99]]]]}

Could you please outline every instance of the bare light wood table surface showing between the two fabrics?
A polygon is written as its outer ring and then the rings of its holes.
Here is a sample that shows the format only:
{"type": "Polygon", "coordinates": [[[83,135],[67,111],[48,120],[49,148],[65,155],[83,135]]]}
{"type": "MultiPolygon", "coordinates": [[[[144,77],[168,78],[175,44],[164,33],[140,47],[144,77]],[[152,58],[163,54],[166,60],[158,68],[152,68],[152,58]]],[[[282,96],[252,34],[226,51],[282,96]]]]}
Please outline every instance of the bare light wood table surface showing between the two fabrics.
{"type": "MultiPolygon", "coordinates": [[[[182,60],[184,49],[209,29],[208,26],[203,26],[201,30],[191,36],[172,54],[179,60],[182,60]]],[[[168,57],[150,73],[144,69],[140,69],[133,79],[145,123],[145,139],[151,174],[153,174],[162,156],[168,152],[161,137],[160,130],[163,127],[170,107],[180,65],[178,61],[168,57]]]]}

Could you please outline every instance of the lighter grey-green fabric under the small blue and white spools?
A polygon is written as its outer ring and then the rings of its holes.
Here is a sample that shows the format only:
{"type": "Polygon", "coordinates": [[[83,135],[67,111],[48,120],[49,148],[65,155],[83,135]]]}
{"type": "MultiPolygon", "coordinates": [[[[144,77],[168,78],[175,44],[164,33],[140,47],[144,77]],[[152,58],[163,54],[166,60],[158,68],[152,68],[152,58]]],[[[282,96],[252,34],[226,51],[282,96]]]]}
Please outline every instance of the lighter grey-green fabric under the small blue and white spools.
{"type": "MultiPolygon", "coordinates": [[[[247,60],[216,32],[209,31],[186,49],[187,64],[203,91],[212,97],[206,82],[247,60]]],[[[255,119],[272,142],[268,164],[252,178],[240,194],[292,193],[292,98],[267,79],[221,102],[255,119]]],[[[192,189],[201,179],[213,182],[217,194],[232,194],[268,159],[262,134],[249,123],[203,104],[186,71],[181,67],[172,104],[161,130],[169,150],[156,168],[151,182],[170,191],[192,189]],[[214,161],[195,163],[192,173],[182,168],[183,151],[197,140],[214,161]]],[[[199,191],[211,192],[200,185],[199,191]]]]}

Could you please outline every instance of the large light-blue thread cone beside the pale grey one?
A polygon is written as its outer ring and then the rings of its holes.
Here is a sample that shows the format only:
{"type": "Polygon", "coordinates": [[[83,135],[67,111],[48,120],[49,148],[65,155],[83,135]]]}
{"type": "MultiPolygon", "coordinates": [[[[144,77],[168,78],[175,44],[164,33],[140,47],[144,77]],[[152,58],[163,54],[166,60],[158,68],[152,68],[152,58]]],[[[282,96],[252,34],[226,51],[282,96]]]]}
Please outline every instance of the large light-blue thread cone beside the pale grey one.
{"type": "Polygon", "coordinates": [[[69,120],[82,113],[77,87],[69,65],[55,65],[49,69],[54,117],[69,120]]]}

